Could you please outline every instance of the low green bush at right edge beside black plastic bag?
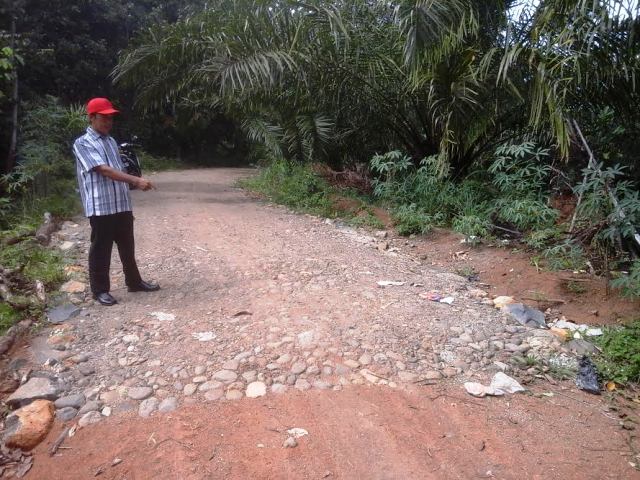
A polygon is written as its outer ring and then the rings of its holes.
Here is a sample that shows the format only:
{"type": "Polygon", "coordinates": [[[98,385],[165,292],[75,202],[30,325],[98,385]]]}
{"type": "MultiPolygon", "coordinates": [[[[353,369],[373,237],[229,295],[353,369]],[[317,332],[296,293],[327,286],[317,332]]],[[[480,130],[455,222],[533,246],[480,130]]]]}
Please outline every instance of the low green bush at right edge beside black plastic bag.
{"type": "Polygon", "coordinates": [[[624,327],[609,327],[595,339],[602,353],[596,365],[604,380],[640,382],[640,320],[624,327]]]}

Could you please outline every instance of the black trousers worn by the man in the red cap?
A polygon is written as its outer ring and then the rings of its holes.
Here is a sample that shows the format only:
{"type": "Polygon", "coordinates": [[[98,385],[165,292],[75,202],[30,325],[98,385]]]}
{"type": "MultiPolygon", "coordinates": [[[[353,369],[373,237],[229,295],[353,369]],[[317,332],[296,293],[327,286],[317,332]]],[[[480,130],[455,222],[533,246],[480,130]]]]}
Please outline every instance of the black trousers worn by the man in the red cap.
{"type": "Polygon", "coordinates": [[[91,247],[89,248],[89,283],[94,294],[111,290],[109,270],[113,242],[118,246],[125,283],[129,287],[140,284],[133,239],[133,213],[121,212],[113,215],[89,217],[91,224],[91,247]]]}

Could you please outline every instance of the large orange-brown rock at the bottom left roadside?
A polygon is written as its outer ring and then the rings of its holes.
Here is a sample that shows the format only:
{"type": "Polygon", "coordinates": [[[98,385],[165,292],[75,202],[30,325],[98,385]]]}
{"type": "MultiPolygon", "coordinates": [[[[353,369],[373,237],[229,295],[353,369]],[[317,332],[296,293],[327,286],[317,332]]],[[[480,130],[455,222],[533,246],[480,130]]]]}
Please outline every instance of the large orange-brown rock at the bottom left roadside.
{"type": "Polygon", "coordinates": [[[3,441],[7,447],[31,450],[49,433],[55,408],[48,400],[35,400],[9,415],[3,441]]]}

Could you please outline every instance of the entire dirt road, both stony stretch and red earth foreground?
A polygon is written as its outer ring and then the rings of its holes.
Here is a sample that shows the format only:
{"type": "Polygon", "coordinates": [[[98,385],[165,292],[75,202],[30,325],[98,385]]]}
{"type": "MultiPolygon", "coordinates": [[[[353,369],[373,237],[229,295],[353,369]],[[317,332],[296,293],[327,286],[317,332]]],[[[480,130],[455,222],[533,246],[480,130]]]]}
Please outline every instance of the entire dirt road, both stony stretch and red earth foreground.
{"type": "MultiPolygon", "coordinates": [[[[139,264],[162,290],[127,293],[114,254],[120,303],[89,302],[25,353],[64,366],[64,395],[83,399],[70,422],[99,420],[50,458],[56,425],[27,478],[640,478],[616,412],[571,383],[465,393],[519,377],[514,357],[567,357],[552,335],[403,239],[251,198],[233,186],[247,174],[162,173],[135,192],[139,264]],[[308,435],[285,448],[294,427],[308,435]]],[[[79,220],[60,238],[82,265],[87,236],[79,220]]]]}

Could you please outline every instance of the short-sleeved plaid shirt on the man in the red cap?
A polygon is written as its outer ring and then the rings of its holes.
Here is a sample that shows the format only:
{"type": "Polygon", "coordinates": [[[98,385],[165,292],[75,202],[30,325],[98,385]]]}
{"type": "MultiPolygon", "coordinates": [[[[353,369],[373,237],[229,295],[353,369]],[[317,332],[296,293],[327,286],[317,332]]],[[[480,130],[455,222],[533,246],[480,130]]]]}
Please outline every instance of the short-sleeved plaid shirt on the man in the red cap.
{"type": "Polygon", "coordinates": [[[96,172],[96,167],[107,165],[123,170],[116,141],[100,135],[93,128],[73,144],[80,197],[87,217],[112,215],[132,210],[129,185],[117,182],[96,172]]]}

